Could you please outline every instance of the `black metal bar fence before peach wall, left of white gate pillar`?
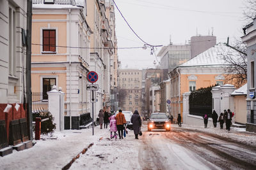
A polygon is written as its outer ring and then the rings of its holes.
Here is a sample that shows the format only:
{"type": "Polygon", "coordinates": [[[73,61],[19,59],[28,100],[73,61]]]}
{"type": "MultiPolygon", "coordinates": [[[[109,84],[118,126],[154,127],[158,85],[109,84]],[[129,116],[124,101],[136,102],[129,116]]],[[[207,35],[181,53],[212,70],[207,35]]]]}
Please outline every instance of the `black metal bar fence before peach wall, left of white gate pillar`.
{"type": "Polygon", "coordinates": [[[48,95],[42,92],[32,93],[32,113],[48,112],[48,95]]]}

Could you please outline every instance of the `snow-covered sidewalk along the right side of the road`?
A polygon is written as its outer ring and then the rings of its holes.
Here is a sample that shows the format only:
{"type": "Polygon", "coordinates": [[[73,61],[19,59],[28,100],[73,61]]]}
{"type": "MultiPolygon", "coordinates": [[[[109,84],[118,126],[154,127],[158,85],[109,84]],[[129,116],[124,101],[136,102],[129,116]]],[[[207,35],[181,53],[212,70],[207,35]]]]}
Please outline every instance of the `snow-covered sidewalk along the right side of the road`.
{"type": "MultiPolygon", "coordinates": [[[[178,127],[178,125],[172,124],[172,127],[178,127]]],[[[225,124],[223,125],[223,129],[220,129],[219,124],[217,127],[204,128],[203,122],[202,127],[182,124],[181,128],[197,130],[209,134],[216,134],[218,136],[223,136],[225,138],[232,139],[233,141],[237,141],[239,143],[244,143],[250,146],[256,146],[256,134],[253,132],[246,132],[245,128],[230,127],[230,131],[228,132],[226,130],[225,124]]]]}

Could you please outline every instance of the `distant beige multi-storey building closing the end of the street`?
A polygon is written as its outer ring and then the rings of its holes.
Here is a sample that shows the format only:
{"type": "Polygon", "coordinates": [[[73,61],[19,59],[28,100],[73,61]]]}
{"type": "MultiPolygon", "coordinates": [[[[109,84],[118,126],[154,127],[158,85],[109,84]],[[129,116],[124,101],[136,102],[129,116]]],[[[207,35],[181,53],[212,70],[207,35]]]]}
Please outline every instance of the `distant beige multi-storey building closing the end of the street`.
{"type": "Polygon", "coordinates": [[[141,113],[141,81],[142,70],[140,69],[120,69],[120,103],[122,110],[141,113]]]}

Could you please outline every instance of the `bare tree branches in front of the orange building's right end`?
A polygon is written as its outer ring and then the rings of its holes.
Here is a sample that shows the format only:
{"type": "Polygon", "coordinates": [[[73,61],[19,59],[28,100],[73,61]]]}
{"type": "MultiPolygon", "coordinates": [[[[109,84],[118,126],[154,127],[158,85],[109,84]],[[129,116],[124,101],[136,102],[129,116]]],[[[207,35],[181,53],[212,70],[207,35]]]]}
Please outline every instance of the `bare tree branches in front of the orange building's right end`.
{"type": "Polygon", "coordinates": [[[241,41],[236,41],[234,46],[228,44],[227,46],[236,50],[239,56],[234,57],[234,53],[229,52],[222,53],[223,59],[228,64],[228,67],[224,67],[226,73],[224,83],[232,82],[232,84],[239,88],[247,82],[246,46],[241,41]]]}

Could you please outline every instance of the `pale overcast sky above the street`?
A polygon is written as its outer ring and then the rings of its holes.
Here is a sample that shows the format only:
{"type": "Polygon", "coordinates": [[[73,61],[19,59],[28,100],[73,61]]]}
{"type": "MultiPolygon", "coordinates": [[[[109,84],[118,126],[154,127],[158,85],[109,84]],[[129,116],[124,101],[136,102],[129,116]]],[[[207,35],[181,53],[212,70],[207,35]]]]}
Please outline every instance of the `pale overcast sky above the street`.
{"type": "MultiPolygon", "coordinates": [[[[168,45],[184,44],[198,34],[213,34],[218,42],[240,38],[244,0],[115,0],[132,29],[147,43],[168,45]]],[[[143,42],[129,29],[115,9],[118,47],[143,46],[143,42]]],[[[156,54],[160,48],[157,48],[156,54]]],[[[154,67],[156,57],[150,49],[118,49],[122,68],[154,67]]]]}

